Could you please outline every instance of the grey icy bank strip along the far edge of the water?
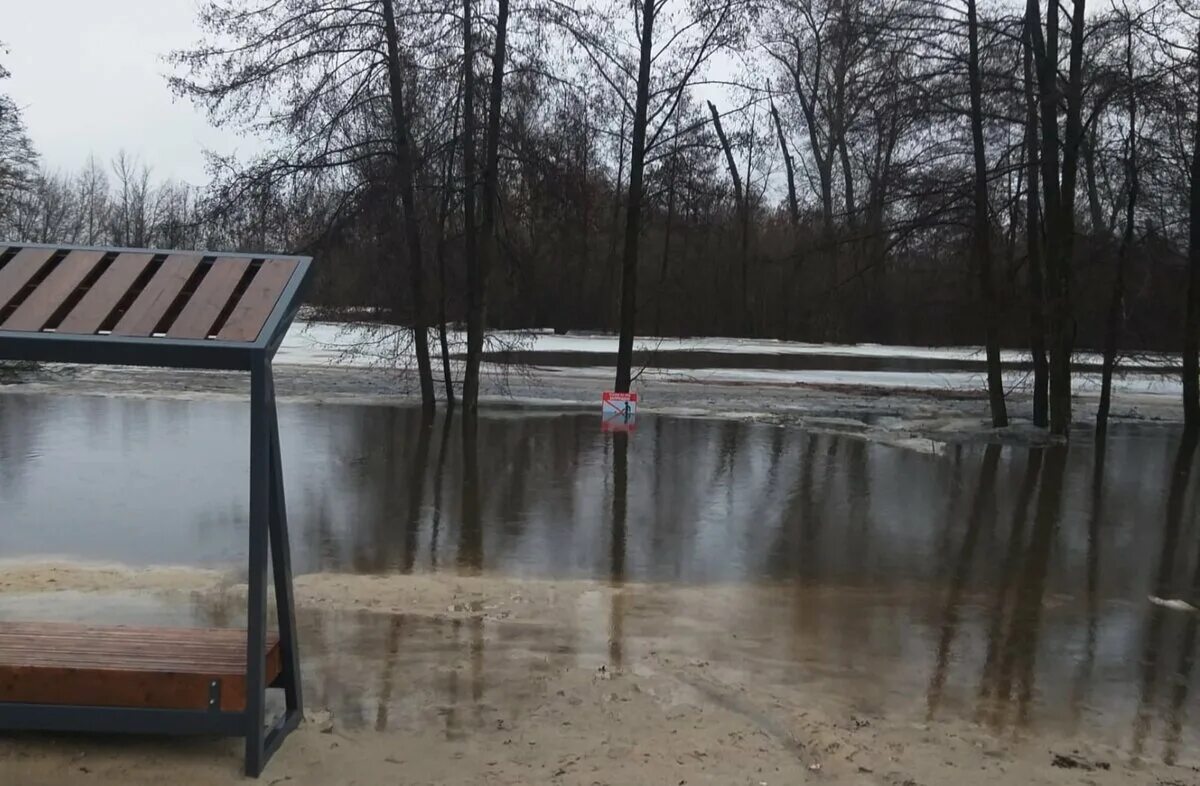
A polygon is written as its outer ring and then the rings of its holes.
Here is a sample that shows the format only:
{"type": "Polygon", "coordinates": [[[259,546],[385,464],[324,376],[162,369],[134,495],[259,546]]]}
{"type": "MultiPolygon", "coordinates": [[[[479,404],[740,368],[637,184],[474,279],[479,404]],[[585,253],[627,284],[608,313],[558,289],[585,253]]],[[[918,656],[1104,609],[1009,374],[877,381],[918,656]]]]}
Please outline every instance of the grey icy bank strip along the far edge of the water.
{"type": "MultiPolygon", "coordinates": [[[[492,410],[536,414],[599,410],[600,394],[611,385],[608,370],[540,366],[485,367],[482,400],[492,410]]],[[[820,372],[823,373],[823,372],[820,372]]],[[[646,373],[638,379],[641,410],[668,416],[719,418],[800,426],[808,431],[851,436],[923,452],[978,442],[1048,444],[1022,413],[1032,410],[1025,376],[1010,380],[1013,426],[991,427],[982,378],[938,373],[901,374],[887,385],[863,385],[854,374],[832,372],[814,380],[755,376],[710,378],[704,370],[646,373]],[[978,383],[978,384],[974,384],[978,383]]],[[[416,379],[403,371],[368,365],[278,364],[275,382],[281,401],[293,403],[409,407],[418,397],[416,379]]],[[[1094,421],[1099,385],[1080,378],[1075,421],[1087,434],[1094,421]]],[[[1180,396],[1168,378],[1139,378],[1115,389],[1110,418],[1116,424],[1182,422],[1180,396]],[[1164,388],[1159,390],[1159,388],[1164,388]]],[[[50,396],[124,396],[140,398],[245,400],[248,378],[238,373],[42,366],[23,371],[0,394],[50,396]]]]}

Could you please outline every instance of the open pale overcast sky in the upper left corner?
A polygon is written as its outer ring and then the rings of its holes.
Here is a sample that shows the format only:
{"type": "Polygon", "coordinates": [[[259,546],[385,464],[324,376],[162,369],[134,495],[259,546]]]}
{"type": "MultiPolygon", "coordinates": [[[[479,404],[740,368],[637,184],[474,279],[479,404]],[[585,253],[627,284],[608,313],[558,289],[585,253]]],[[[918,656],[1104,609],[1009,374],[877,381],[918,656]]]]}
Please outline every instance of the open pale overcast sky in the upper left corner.
{"type": "Polygon", "coordinates": [[[0,83],[50,169],[125,149],[156,179],[206,181],[205,148],[253,150],[167,86],[162,55],[193,43],[197,0],[0,0],[0,83]]]}

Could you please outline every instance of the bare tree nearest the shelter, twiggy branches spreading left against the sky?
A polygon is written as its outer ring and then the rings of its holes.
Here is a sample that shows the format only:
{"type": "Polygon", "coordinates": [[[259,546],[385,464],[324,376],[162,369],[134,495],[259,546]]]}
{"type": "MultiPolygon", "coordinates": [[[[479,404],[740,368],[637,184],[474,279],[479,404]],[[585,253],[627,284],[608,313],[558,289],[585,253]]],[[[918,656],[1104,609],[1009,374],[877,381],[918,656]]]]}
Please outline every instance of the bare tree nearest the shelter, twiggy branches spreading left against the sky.
{"type": "MultiPolygon", "coordinates": [[[[366,194],[376,200],[398,196],[408,322],[421,401],[430,408],[434,392],[414,186],[421,143],[414,125],[418,118],[432,119],[422,131],[437,136],[440,120],[418,112],[410,94],[420,85],[432,100],[444,83],[448,53],[440,42],[451,14],[437,2],[408,5],[402,12],[401,26],[392,0],[206,2],[199,22],[209,40],[173,54],[181,73],[172,84],[208,109],[215,124],[270,132],[281,140],[248,167],[215,162],[218,173],[229,173],[217,194],[227,209],[254,188],[298,179],[324,180],[343,191],[329,216],[334,222],[366,194]],[[427,67],[418,68],[415,58],[427,67]]],[[[400,277],[386,278],[391,307],[398,311],[404,300],[400,277]]]]}

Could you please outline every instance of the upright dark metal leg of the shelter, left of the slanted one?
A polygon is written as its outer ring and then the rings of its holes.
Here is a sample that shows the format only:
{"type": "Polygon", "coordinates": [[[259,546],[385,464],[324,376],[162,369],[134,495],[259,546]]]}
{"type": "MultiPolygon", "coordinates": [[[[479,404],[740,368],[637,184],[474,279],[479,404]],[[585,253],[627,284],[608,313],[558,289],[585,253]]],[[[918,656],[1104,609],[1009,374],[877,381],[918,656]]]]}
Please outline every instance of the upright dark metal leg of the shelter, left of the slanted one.
{"type": "Polygon", "coordinates": [[[250,576],[246,610],[246,774],[263,772],[266,703],[266,547],[270,526],[271,428],[266,362],[250,374],[250,576]]]}

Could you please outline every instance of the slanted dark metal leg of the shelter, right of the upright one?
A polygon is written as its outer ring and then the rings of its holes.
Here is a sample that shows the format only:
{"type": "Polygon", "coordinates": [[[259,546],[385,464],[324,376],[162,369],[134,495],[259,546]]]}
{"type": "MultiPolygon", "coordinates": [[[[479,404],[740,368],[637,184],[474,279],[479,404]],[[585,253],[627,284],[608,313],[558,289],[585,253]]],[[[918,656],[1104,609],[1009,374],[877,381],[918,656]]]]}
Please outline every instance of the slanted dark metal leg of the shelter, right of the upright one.
{"type": "Polygon", "coordinates": [[[292,546],[288,540],[288,508],[283,494],[283,460],[280,451],[280,421],[275,408],[275,379],[266,367],[268,416],[271,431],[270,544],[275,576],[275,607],[280,620],[280,650],[283,670],[278,685],[287,698],[287,714],[304,713],[300,690],[300,649],[296,644],[296,610],[292,592],[292,546]]]}

